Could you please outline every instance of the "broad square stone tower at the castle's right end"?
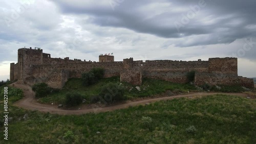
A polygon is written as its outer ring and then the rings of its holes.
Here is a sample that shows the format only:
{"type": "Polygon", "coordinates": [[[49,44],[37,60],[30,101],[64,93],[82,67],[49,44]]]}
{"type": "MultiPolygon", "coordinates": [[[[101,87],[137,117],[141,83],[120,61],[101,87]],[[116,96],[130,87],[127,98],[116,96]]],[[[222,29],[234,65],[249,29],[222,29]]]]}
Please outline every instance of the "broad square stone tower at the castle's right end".
{"type": "Polygon", "coordinates": [[[209,58],[209,73],[238,76],[237,58],[209,58]]]}

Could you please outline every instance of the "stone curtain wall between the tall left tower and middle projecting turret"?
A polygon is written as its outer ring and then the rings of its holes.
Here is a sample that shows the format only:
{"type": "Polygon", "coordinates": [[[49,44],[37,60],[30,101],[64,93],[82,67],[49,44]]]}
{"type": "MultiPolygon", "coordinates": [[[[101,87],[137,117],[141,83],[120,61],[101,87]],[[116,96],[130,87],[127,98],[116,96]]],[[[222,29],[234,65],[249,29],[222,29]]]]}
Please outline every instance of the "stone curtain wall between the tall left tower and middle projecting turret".
{"type": "Polygon", "coordinates": [[[46,82],[54,88],[61,88],[69,78],[80,78],[81,74],[90,71],[93,67],[105,69],[104,77],[120,76],[123,62],[80,62],[33,65],[33,80],[30,85],[46,82]]]}

